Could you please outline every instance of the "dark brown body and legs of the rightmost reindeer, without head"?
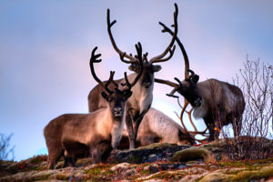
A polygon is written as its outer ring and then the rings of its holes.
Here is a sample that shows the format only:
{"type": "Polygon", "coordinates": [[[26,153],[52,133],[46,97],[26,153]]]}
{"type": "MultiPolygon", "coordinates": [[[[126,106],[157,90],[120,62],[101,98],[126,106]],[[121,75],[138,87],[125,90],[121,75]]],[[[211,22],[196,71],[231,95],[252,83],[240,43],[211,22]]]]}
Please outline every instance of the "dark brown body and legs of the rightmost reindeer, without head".
{"type": "Polygon", "coordinates": [[[192,105],[193,116],[204,119],[210,134],[208,141],[217,138],[222,126],[228,124],[232,124],[235,136],[238,136],[246,105],[238,86],[217,79],[208,79],[197,83],[197,89],[202,97],[202,105],[192,105]]]}

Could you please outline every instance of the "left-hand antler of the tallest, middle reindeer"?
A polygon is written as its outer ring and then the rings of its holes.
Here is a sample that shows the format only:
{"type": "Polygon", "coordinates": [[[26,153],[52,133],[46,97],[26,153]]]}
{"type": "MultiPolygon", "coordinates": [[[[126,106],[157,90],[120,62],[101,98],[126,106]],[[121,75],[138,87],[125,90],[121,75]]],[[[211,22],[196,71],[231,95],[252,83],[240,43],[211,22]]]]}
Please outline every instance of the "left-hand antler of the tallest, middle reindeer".
{"type": "Polygon", "coordinates": [[[124,61],[125,63],[136,63],[137,60],[135,57],[131,56],[131,55],[126,55],[125,52],[122,52],[117,46],[116,46],[116,42],[115,39],[112,35],[111,32],[111,27],[116,24],[116,20],[114,20],[113,22],[110,22],[110,9],[107,9],[107,31],[108,31],[108,35],[110,37],[111,43],[114,46],[114,49],[116,50],[116,52],[120,55],[124,55],[123,57],[128,58],[130,61],[126,61],[124,59],[122,59],[122,61],[124,61]]]}

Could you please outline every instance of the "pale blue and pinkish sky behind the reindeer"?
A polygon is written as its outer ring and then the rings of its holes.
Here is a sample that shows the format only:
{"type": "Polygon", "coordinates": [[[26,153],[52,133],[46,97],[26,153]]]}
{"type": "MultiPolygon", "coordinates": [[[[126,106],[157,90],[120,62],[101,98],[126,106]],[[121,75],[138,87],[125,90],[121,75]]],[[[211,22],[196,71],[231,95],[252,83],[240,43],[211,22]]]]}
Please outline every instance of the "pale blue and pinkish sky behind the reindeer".
{"type": "MultiPolygon", "coordinates": [[[[87,95],[96,86],[88,66],[95,46],[103,59],[96,66],[101,79],[110,70],[116,71],[116,78],[127,71],[107,35],[107,8],[117,21],[112,31],[120,49],[135,54],[140,41],[150,58],[161,54],[170,41],[158,21],[173,24],[175,2],[178,37],[200,81],[231,82],[247,55],[273,64],[270,0],[1,1],[0,133],[14,134],[15,160],[45,148],[43,129],[51,119],[87,112],[87,95]]],[[[171,60],[158,65],[162,70],[156,77],[183,79],[184,61],[178,47],[171,60]]],[[[177,119],[177,102],[166,96],[170,90],[156,84],[153,106],[177,119]]]]}

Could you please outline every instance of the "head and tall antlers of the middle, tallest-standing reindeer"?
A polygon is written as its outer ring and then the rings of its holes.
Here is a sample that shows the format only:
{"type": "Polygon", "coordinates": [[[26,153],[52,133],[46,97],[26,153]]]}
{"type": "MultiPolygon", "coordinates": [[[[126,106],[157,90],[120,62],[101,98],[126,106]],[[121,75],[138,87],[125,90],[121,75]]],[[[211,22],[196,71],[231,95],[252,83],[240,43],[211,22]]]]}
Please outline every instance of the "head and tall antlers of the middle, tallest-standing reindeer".
{"type": "MultiPolygon", "coordinates": [[[[107,10],[107,31],[108,31],[108,35],[110,37],[111,43],[114,46],[116,52],[122,56],[121,60],[126,63],[126,64],[130,64],[130,66],[128,67],[129,70],[135,72],[135,73],[139,73],[140,71],[140,62],[143,62],[142,64],[143,66],[143,73],[139,79],[140,81],[140,86],[142,86],[143,88],[150,88],[151,86],[153,86],[154,83],[154,73],[158,72],[161,70],[161,66],[158,65],[153,65],[154,63],[159,63],[159,62],[165,62],[167,60],[169,60],[172,56],[173,53],[176,49],[176,46],[174,45],[175,40],[176,40],[176,36],[177,36],[177,14],[178,14],[178,8],[177,8],[177,4],[175,4],[176,7],[176,11],[174,13],[174,26],[175,26],[175,33],[173,35],[173,38],[170,42],[170,44],[167,46],[167,48],[165,49],[165,51],[159,55],[159,56],[155,56],[153,58],[151,58],[149,61],[147,60],[147,53],[143,57],[143,59],[141,60],[137,60],[137,57],[139,56],[132,56],[132,54],[127,55],[126,52],[122,52],[117,46],[116,46],[116,42],[115,39],[112,35],[111,32],[111,27],[116,23],[116,20],[114,20],[113,22],[110,21],[110,10],[107,10]],[[173,46],[174,45],[174,46],[173,46]],[[166,58],[164,58],[164,56],[167,55],[167,52],[169,52],[169,56],[167,56],[166,58]],[[125,57],[128,60],[125,60],[125,57]]],[[[160,23],[159,23],[160,24],[160,23]]]]}

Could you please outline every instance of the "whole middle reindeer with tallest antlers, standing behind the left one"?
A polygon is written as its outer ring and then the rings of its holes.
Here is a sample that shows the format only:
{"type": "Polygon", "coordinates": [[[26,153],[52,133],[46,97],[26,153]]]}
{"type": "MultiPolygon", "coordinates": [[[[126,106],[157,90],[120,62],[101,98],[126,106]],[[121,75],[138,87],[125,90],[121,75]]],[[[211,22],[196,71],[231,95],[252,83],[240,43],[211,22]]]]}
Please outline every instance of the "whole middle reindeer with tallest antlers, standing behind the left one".
{"type": "MultiPolygon", "coordinates": [[[[152,104],[153,100],[153,89],[154,89],[154,74],[155,72],[160,71],[161,66],[154,65],[155,63],[165,62],[169,60],[175,51],[175,40],[177,36],[177,4],[175,4],[175,13],[174,13],[174,35],[170,44],[167,46],[165,51],[159,55],[151,58],[147,61],[147,53],[144,55],[144,59],[137,60],[136,57],[127,55],[125,52],[122,52],[116,45],[115,39],[111,32],[111,27],[116,23],[116,20],[113,22],[110,21],[110,10],[107,10],[107,32],[110,37],[111,43],[116,50],[116,52],[122,56],[121,61],[130,64],[128,67],[131,71],[135,72],[128,76],[129,80],[134,79],[136,75],[139,74],[139,61],[144,62],[143,73],[141,74],[140,79],[136,83],[136,86],[132,88],[133,96],[131,96],[126,102],[126,129],[128,132],[130,148],[135,148],[135,140],[137,136],[138,126],[147,110],[152,104]],[[174,45],[174,46],[173,46],[174,45]],[[172,48],[173,47],[173,48],[172,48]],[[167,53],[169,52],[169,56],[167,53]],[[167,56],[167,57],[165,57],[167,56]],[[126,59],[127,60],[126,60],[126,59]]],[[[159,23],[160,24],[160,23],[159,23]]],[[[116,80],[116,83],[121,86],[124,83],[124,79],[116,80]]],[[[107,106],[107,102],[103,99],[102,96],[99,96],[99,93],[103,89],[102,86],[95,86],[88,95],[88,107],[89,112],[96,111],[99,108],[104,108],[107,106]]]]}

